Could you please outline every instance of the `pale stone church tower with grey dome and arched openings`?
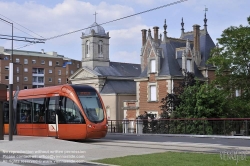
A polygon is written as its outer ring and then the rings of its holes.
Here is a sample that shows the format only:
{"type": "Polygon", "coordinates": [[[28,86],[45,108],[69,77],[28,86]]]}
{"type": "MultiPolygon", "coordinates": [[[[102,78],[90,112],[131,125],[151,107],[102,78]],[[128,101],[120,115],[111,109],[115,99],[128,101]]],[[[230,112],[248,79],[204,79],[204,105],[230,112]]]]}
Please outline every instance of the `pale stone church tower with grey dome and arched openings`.
{"type": "Polygon", "coordinates": [[[109,33],[94,22],[82,33],[82,66],[109,66],[109,33]]]}

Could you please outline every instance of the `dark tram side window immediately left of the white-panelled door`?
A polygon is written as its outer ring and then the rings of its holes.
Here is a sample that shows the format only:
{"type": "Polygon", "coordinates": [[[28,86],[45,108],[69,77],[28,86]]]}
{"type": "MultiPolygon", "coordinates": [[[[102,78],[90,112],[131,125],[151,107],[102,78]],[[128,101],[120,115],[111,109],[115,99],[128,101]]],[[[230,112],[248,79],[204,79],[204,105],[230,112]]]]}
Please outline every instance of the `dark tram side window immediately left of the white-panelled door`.
{"type": "Polygon", "coordinates": [[[45,101],[46,98],[33,99],[33,123],[45,122],[45,101]]]}

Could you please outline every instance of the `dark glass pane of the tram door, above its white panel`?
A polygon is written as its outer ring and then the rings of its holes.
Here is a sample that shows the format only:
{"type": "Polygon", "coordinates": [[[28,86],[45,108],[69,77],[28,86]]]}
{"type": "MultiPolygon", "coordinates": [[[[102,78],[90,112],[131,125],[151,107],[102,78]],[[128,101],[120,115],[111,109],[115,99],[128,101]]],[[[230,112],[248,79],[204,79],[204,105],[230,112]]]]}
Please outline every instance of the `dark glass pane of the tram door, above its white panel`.
{"type": "Polygon", "coordinates": [[[56,123],[56,113],[59,112],[59,97],[48,98],[48,123],[56,123]]]}

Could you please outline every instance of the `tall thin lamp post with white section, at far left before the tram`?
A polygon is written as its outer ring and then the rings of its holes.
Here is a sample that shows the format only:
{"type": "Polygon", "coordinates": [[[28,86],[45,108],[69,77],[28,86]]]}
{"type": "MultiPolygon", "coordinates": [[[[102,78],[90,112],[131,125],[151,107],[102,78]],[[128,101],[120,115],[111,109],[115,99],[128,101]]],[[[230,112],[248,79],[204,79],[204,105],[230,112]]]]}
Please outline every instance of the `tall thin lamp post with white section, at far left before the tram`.
{"type": "Polygon", "coordinates": [[[11,40],[11,62],[9,63],[9,141],[13,140],[13,23],[1,20],[11,24],[12,26],[12,40],[11,40]]]}

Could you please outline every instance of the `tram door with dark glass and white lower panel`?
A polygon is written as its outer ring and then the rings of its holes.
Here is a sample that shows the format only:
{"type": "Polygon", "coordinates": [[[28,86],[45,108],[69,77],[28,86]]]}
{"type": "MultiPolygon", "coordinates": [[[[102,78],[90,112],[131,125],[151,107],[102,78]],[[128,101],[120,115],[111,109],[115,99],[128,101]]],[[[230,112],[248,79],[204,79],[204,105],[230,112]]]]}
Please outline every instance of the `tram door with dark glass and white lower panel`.
{"type": "Polygon", "coordinates": [[[47,98],[47,124],[48,124],[48,136],[57,137],[58,135],[58,112],[59,112],[59,96],[53,96],[47,98]]]}

